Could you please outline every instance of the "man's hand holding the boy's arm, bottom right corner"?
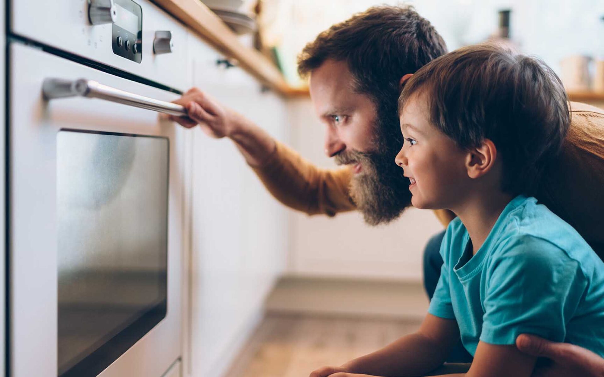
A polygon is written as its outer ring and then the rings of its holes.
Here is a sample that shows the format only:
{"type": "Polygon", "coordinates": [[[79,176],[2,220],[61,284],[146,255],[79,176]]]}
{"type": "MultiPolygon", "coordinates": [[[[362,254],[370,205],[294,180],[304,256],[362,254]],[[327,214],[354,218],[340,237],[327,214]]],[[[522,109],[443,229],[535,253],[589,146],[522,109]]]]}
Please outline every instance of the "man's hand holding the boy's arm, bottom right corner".
{"type": "Polygon", "coordinates": [[[535,368],[533,377],[603,377],[604,359],[585,348],[568,343],[555,343],[536,335],[521,334],[516,347],[528,355],[544,357],[550,363],[535,368]]]}

